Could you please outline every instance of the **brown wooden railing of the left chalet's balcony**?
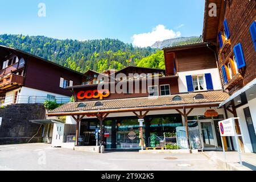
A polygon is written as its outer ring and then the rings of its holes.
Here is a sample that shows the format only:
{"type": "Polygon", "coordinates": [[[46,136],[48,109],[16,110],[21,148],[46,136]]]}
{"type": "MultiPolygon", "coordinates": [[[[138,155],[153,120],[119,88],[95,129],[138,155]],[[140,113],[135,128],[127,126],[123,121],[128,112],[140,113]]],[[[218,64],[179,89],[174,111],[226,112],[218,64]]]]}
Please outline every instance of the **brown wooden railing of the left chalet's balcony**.
{"type": "Polygon", "coordinates": [[[0,88],[3,90],[5,87],[9,87],[9,85],[23,85],[23,82],[24,76],[9,73],[0,77],[0,88]]]}

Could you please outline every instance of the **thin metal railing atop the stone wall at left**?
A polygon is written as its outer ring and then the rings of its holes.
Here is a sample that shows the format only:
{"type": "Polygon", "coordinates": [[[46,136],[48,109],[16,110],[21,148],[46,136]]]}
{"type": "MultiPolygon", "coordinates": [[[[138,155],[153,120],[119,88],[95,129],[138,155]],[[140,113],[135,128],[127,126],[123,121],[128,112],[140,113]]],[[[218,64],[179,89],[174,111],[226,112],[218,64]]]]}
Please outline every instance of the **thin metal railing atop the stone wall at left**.
{"type": "Polygon", "coordinates": [[[6,96],[0,97],[0,105],[8,104],[43,104],[44,101],[55,101],[57,104],[65,104],[70,101],[70,97],[52,97],[47,96],[6,96]]]}

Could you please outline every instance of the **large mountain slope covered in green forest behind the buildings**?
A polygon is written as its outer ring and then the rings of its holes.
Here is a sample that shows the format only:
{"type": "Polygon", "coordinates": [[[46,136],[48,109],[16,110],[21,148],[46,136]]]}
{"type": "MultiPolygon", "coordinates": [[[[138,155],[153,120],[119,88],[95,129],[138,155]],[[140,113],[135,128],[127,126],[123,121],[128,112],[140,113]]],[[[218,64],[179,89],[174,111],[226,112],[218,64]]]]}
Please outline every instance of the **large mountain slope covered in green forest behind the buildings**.
{"type": "Polygon", "coordinates": [[[128,65],[136,65],[138,61],[157,51],[151,47],[134,47],[117,39],[79,41],[7,34],[0,35],[0,44],[20,49],[82,73],[88,69],[98,72],[106,69],[119,70],[128,65]]]}

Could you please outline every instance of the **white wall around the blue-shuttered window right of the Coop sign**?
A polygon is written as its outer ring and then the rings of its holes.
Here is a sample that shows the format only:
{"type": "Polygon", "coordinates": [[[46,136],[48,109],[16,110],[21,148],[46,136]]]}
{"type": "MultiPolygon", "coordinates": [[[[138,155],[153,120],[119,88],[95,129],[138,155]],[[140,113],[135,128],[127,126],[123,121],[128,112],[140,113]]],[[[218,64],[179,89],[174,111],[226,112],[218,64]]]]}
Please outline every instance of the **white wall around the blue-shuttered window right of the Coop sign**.
{"type": "MultiPolygon", "coordinates": [[[[210,68],[210,69],[199,69],[195,71],[187,71],[187,72],[177,72],[179,75],[178,83],[179,83],[179,92],[188,92],[187,88],[187,75],[203,75],[205,73],[210,73],[212,76],[212,83],[214,90],[221,90],[221,80],[218,73],[218,68],[210,68]]],[[[206,84],[206,83],[205,83],[206,84]]]]}

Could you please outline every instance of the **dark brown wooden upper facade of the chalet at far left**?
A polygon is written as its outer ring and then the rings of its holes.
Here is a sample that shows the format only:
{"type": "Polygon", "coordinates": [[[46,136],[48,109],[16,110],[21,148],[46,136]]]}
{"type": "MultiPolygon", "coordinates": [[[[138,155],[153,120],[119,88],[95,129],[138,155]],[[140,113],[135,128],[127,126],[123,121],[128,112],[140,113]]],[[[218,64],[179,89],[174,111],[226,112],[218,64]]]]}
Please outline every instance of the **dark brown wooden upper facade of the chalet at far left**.
{"type": "Polygon", "coordinates": [[[70,90],[60,87],[60,78],[72,80],[73,85],[81,85],[81,81],[85,77],[82,73],[51,61],[4,46],[0,47],[0,59],[1,97],[5,97],[6,92],[22,86],[63,96],[72,96],[70,90]]]}

